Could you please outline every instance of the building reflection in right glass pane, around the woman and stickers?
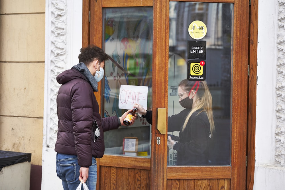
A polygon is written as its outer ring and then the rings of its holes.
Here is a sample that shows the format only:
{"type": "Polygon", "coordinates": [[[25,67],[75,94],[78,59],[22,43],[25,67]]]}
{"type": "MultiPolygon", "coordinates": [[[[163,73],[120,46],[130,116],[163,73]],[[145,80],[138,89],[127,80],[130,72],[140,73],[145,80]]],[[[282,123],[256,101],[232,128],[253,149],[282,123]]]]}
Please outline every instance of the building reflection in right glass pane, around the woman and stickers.
{"type": "MultiPolygon", "coordinates": [[[[215,117],[216,138],[211,147],[211,162],[214,165],[230,164],[231,142],[231,66],[233,5],[229,3],[185,3],[170,2],[169,10],[169,75],[168,116],[179,113],[183,108],[172,89],[187,78],[187,41],[195,40],[188,32],[189,24],[201,21],[207,27],[206,76],[212,98],[215,117]],[[172,89],[171,89],[172,88],[172,89]]],[[[199,41],[198,40],[198,41],[199,41]]],[[[196,60],[200,62],[200,60],[196,60]]],[[[173,132],[178,136],[179,132],[173,132]]]]}

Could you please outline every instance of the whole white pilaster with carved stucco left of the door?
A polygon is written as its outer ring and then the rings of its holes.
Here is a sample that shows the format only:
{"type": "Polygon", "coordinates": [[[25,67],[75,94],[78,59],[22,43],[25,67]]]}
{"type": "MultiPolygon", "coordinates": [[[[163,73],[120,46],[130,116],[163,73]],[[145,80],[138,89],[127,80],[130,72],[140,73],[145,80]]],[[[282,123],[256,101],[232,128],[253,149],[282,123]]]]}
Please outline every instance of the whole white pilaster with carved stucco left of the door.
{"type": "Polygon", "coordinates": [[[82,1],[46,0],[42,190],[63,189],[56,175],[56,77],[78,63],[82,46],[82,1]],[[75,52],[75,53],[73,53],[75,52]]]}

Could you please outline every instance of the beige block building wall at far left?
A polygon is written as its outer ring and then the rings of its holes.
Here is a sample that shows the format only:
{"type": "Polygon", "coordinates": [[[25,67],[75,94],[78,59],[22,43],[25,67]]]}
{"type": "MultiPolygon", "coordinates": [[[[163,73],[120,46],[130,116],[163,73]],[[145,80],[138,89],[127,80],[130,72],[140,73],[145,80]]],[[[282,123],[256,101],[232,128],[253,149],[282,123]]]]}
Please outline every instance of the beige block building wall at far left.
{"type": "Polygon", "coordinates": [[[45,0],[0,0],[0,150],[42,165],[45,0]]]}

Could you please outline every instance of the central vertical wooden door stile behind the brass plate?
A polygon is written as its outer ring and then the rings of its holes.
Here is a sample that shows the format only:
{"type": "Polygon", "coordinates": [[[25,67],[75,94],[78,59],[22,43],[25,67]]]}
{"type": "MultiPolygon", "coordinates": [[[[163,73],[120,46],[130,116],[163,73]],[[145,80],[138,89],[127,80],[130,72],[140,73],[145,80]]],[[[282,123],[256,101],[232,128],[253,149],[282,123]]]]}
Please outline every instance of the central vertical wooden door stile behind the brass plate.
{"type": "MultiPolygon", "coordinates": [[[[167,179],[167,134],[161,134],[157,126],[157,108],[168,107],[168,36],[169,36],[169,1],[154,0],[153,2],[153,59],[152,59],[152,139],[160,137],[158,145],[152,140],[151,143],[151,189],[166,189],[167,179]],[[161,24],[163,23],[163,24],[161,24]],[[161,32],[163,31],[163,32],[161,32]],[[159,36],[163,36],[162,38],[159,36]],[[161,56],[157,56],[161,55],[161,56]],[[160,92],[160,93],[156,93],[160,92]],[[163,94],[163,96],[161,96],[163,94]],[[161,98],[163,97],[163,98],[161,98]],[[160,162],[158,162],[160,160],[160,162]]],[[[166,113],[167,115],[167,113],[166,113]]],[[[165,118],[167,120],[167,118],[165,118]]],[[[167,123],[165,123],[167,126],[167,123]]],[[[166,127],[165,126],[165,127],[166,127]]],[[[167,131],[167,128],[166,128],[167,131]]]]}

